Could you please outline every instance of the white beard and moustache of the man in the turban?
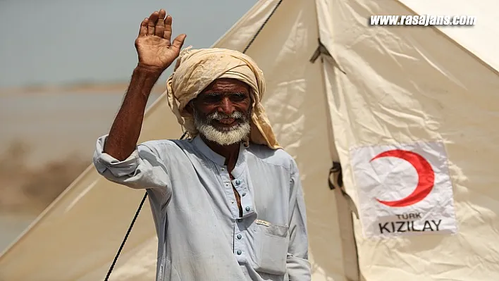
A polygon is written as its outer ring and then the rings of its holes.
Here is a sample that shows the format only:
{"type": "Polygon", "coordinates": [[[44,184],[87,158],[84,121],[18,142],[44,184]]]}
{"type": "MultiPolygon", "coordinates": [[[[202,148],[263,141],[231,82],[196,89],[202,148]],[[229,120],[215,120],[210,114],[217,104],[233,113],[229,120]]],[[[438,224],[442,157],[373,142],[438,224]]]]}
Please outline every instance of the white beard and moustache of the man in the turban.
{"type": "Polygon", "coordinates": [[[250,135],[251,125],[250,121],[240,112],[235,112],[232,115],[225,115],[215,112],[207,116],[207,120],[202,119],[197,112],[194,112],[194,123],[196,129],[201,135],[206,137],[211,142],[216,142],[221,145],[235,144],[241,142],[245,137],[250,135]],[[242,120],[241,123],[234,127],[227,128],[226,130],[218,130],[211,125],[212,120],[221,120],[223,118],[234,118],[242,120]]]}

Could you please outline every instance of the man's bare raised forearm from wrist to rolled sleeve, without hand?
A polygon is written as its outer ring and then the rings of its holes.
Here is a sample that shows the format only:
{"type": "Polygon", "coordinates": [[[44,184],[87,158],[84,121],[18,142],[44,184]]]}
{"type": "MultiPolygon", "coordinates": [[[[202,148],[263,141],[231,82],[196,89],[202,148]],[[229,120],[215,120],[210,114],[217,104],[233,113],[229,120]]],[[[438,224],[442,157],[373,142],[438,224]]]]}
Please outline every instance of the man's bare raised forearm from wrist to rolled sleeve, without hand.
{"type": "Polygon", "coordinates": [[[125,99],[104,145],[104,152],[118,161],[128,158],[137,146],[147,99],[149,99],[152,87],[161,76],[161,72],[159,68],[140,65],[133,70],[125,99]]]}

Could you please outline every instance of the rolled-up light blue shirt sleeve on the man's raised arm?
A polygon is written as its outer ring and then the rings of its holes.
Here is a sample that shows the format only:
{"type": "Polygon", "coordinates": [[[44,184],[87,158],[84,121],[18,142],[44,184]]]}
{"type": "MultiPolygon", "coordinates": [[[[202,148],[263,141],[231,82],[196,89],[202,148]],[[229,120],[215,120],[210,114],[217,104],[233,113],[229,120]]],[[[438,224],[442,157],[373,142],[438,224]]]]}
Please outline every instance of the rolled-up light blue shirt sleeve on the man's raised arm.
{"type": "Polygon", "coordinates": [[[111,182],[134,189],[154,189],[164,201],[171,197],[171,181],[164,161],[154,147],[147,143],[137,145],[123,161],[104,152],[107,135],[97,139],[93,162],[97,172],[111,182]]]}

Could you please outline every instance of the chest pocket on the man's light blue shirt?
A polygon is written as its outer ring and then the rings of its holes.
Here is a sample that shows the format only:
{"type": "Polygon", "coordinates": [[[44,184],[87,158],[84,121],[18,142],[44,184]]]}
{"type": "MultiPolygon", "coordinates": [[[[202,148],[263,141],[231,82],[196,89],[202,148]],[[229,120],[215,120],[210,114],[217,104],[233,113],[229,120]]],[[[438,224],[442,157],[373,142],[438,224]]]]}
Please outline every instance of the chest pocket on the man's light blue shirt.
{"type": "Polygon", "coordinates": [[[290,241],[285,225],[259,224],[256,227],[255,268],[262,273],[284,275],[286,273],[286,258],[290,241]]]}

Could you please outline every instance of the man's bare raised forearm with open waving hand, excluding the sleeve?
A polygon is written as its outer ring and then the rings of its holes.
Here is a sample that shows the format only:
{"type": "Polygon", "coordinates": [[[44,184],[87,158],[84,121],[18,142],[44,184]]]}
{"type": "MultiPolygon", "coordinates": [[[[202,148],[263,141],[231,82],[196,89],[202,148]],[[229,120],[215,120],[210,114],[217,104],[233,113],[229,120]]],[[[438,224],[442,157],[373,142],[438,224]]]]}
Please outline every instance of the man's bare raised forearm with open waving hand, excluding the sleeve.
{"type": "Polygon", "coordinates": [[[139,63],[104,145],[104,153],[119,161],[135,151],[152,87],[178,57],[185,40],[185,35],[179,35],[171,44],[172,18],[165,15],[166,11],[161,9],[142,20],[135,39],[139,63]]]}

